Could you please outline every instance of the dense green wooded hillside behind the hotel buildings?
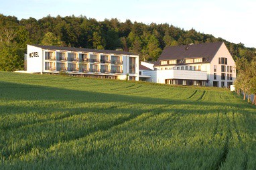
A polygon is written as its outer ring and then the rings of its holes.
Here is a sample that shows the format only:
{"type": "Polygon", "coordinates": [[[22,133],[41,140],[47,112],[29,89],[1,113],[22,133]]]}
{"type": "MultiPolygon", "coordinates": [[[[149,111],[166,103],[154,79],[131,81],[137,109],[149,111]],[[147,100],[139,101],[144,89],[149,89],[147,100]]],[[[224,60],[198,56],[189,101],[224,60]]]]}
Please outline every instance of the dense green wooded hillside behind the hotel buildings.
{"type": "Polygon", "coordinates": [[[82,15],[19,20],[0,14],[0,70],[22,69],[26,44],[124,50],[139,54],[140,60],[151,61],[157,60],[166,46],[214,41],[225,41],[235,60],[244,56],[251,61],[256,56],[255,48],[168,23],[147,25],[129,19],[97,21],[82,15]]]}

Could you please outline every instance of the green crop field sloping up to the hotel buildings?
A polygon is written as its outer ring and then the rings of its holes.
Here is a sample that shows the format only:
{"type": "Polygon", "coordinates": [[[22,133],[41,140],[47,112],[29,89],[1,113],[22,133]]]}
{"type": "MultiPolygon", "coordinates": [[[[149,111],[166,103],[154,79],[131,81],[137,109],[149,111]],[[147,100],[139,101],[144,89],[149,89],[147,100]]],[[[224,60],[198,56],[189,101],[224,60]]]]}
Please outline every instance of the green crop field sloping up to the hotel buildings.
{"type": "Polygon", "coordinates": [[[221,88],[0,72],[0,169],[256,169],[256,108],[221,88]]]}

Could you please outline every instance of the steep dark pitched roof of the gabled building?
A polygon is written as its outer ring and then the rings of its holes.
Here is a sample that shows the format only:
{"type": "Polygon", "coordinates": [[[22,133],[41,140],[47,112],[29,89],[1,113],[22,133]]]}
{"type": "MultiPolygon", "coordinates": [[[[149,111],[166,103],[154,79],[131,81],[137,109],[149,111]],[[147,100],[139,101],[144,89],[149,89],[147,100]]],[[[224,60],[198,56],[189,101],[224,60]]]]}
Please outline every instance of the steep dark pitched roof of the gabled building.
{"type": "Polygon", "coordinates": [[[157,62],[160,60],[175,60],[184,58],[209,58],[210,62],[215,56],[216,52],[223,42],[214,42],[206,44],[191,44],[183,46],[167,47],[159,56],[157,62]]]}

